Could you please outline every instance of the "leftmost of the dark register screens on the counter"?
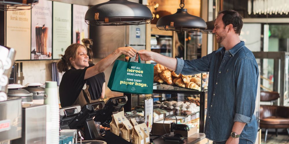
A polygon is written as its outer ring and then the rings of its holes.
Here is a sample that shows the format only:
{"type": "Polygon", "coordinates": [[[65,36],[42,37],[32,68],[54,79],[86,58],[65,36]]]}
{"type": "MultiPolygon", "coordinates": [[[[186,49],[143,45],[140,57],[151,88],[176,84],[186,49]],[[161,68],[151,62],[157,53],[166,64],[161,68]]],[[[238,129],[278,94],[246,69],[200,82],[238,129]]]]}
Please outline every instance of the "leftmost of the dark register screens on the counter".
{"type": "Polygon", "coordinates": [[[59,109],[60,130],[70,129],[68,124],[77,116],[81,110],[80,105],[73,105],[69,107],[62,107],[59,109]]]}

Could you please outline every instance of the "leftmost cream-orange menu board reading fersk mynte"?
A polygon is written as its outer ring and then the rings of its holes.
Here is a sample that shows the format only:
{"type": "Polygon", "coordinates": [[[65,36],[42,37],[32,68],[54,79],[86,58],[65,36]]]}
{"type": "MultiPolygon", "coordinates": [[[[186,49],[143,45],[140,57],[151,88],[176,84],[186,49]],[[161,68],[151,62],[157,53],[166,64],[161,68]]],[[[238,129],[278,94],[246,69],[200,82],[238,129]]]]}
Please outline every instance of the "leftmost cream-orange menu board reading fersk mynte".
{"type": "Polygon", "coordinates": [[[15,60],[30,60],[31,10],[6,12],[6,46],[16,50],[15,60]]]}

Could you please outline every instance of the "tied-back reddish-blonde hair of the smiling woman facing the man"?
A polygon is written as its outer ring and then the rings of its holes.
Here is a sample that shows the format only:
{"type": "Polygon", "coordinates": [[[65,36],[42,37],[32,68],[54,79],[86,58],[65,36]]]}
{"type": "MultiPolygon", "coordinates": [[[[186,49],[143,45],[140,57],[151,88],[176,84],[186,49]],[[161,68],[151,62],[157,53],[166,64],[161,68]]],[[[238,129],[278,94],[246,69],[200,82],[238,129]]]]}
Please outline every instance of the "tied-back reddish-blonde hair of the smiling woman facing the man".
{"type": "Polygon", "coordinates": [[[75,60],[77,55],[77,49],[80,46],[83,46],[86,49],[86,47],[82,44],[73,43],[66,48],[64,55],[62,54],[59,55],[59,57],[61,57],[61,60],[57,62],[56,66],[60,73],[66,72],[68,71],[69,68],[71,68],[72,64],[70,58],[72,58],[72,60],[75,60]]]}

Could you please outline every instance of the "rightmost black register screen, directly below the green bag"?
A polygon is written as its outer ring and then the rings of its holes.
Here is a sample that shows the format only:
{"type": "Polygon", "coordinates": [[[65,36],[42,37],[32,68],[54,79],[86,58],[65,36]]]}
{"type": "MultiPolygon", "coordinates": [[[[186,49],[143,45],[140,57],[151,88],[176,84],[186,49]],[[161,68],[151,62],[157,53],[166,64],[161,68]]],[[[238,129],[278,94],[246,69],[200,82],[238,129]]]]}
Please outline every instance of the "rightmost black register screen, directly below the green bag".
{"type": "MultiPolygon", "coordinates": [[[[118,111],[123,108],[123,106],[127,103],[127,96],[118,96],[114,98],[110,98],[106,103],[101,111],[101,115],[97,115],[94,119],[96,122],[101,122],[104,124],[107,120],[112,119],[112,114],[118,113],[118,111]]],[[[109,127],[108,125],[105,125],[109,127]]]]}

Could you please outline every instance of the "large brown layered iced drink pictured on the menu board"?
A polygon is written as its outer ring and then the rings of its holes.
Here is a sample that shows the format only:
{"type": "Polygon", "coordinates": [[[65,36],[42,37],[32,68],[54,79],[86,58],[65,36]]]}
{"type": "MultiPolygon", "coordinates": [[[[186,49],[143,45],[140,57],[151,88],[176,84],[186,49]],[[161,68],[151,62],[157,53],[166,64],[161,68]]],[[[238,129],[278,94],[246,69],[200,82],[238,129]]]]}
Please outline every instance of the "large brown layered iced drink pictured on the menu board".
{"type": "Polygon", "coordinates": [[[43,25],[42,27],[35,27],[36,34],[36,54],[47,55],[47,39],[48,39],[48,27],[43,25]]]}

